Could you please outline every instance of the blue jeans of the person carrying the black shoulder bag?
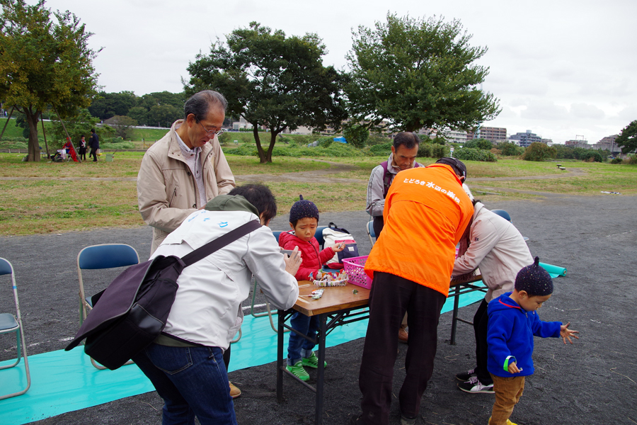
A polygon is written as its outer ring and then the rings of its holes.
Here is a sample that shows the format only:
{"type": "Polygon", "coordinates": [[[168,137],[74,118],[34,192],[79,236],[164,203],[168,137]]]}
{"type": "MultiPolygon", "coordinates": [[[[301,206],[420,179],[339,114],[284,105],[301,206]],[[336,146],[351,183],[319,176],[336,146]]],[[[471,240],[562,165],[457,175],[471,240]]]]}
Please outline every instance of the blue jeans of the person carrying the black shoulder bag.
{"type": "Polygon", "coordinates": [[[132,360],[163,399],[163,425],[236,425],[221,348],[151,344],[132,360]]]}

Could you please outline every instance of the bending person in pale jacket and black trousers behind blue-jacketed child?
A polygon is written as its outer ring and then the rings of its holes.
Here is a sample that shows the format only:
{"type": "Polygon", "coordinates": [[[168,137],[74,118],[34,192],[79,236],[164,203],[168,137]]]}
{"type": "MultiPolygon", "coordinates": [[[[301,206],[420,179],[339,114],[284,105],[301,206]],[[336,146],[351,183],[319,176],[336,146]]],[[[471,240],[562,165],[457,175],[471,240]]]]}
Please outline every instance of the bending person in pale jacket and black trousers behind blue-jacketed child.
{"type": "Polygon", "coordinates": [[[474,315],[476,368],[458,373],[456,378],[462,381],[458,387],[464,392],[493,393],[493,380],[487,370],[487,305],[493,298],[513,290],[517,272],[532,264],[533,257],[524,237],[511,222],[474,200],[469,188],[465,191],[474,203],[474,217],[465,234],[464,242],[469,246],[464,253],[459,252],[452,278],[479,267],[488,291],[474,315]]]}

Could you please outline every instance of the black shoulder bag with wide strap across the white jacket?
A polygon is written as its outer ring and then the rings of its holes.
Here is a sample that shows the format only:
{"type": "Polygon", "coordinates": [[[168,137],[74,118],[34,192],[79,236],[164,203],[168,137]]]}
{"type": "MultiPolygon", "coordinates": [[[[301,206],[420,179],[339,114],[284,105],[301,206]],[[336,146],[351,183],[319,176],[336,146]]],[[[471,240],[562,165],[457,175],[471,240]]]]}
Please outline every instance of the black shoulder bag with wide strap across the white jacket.
{"type": "Polygon", "coordinates": [[[253,220],[181,259],[156,256],[122,271],[108,288],[91,297],[93,310],[64,349],[69,351],[86,338],[86,354],[110,370],[120,368],[161,334],[183,269],[259,227],[253,220]]]}

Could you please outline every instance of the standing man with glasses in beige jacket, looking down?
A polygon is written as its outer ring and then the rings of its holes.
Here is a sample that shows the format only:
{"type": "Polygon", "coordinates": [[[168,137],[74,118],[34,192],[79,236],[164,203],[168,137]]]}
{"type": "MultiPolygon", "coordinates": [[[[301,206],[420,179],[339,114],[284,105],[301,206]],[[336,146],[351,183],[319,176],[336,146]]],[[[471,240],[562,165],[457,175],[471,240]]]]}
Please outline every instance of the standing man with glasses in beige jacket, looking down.
{"type": "Polygon", "coordinates": [[[234,188],[217,139],[226,106],[226,98],[217,91],[193,95],[185,102],[185,118],[173,123],[144,155],[137,200],[142,219],[153,228],[151,254],[193,211],[234,188]]]}

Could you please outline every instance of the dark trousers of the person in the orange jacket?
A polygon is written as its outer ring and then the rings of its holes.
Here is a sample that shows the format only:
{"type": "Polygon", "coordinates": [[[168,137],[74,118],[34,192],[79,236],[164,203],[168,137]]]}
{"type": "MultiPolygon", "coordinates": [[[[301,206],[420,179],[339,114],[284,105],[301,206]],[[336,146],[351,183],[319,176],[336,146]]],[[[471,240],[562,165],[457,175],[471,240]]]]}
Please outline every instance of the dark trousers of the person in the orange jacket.
{"type": "Polygon", "coordinates": [[[406,377],[398,396],[401,413],[418,416],[420,399],[433,372],[440,310],[446,297],[431,288],[390,273],[374,272],[369,294],[369,324],[358,385],[365,424],[389,424],[391,385],[398,351],[396,334],[408,313],[406,377]]]}

